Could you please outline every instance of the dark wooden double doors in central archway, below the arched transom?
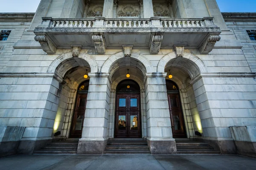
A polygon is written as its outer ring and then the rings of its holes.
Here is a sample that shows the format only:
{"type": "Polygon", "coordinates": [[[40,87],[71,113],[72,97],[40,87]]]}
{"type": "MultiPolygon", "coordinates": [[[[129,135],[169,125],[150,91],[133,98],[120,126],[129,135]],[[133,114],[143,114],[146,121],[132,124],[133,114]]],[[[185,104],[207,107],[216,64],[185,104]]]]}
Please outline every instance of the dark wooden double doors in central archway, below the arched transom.
{"type": "Polygon", "coordinates": [[[116,94],[116,138],[140,138],[140,94],[116,94]]]}

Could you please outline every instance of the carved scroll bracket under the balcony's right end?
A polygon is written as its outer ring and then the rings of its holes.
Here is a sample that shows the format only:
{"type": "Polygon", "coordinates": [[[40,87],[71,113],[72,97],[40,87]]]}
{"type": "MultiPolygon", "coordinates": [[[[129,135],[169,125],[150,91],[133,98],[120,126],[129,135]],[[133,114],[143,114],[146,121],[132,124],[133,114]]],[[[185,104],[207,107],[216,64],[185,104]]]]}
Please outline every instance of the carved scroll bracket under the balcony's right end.
{"type": "Polygon", "coordinates": [[[201,54],[208,54],[212,51],[215,43],[217,41],[221,40],[221,37],[219,35],[210,35],[207,40],[205,40],[201,47],[199,48],[201,54]]]}

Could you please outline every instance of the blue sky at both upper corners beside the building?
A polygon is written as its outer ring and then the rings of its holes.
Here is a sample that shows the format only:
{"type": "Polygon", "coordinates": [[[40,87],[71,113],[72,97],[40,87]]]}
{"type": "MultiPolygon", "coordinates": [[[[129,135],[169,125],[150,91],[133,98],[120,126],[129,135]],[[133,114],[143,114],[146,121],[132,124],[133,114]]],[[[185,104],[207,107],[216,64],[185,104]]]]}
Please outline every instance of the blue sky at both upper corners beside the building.
{"type": "MultiPolygon", "coordinates": [[[[256,0],[216,0],[221,12],[256,12],[256,0]]],[[[40,0],[0,0],[0,12],[35,12],[40,0]]]]}

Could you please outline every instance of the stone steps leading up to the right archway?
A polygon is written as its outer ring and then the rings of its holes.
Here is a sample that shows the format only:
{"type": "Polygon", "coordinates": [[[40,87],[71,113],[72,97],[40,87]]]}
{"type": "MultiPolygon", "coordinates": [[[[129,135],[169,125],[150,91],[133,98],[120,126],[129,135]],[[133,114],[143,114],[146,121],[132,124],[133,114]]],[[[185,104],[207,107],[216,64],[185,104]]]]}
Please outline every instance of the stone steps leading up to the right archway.
{"type": "Polygon", "coordinates": [[[204,142],[197,141],[176,141],[177,154],[220,154],[204,142]]]}

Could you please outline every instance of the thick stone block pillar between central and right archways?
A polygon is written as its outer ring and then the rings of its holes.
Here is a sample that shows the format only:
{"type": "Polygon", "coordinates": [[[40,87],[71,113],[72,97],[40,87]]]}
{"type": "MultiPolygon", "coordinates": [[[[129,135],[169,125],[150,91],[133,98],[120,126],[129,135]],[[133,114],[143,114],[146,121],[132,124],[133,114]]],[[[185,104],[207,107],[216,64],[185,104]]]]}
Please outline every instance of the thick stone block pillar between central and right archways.
{"type": "Polygon", "coordinates": [[[151,154],[175,154],[166,93],[166,73],[147,73],[145,82],[148,146],[151,154]]]}

